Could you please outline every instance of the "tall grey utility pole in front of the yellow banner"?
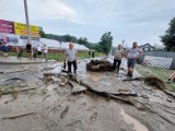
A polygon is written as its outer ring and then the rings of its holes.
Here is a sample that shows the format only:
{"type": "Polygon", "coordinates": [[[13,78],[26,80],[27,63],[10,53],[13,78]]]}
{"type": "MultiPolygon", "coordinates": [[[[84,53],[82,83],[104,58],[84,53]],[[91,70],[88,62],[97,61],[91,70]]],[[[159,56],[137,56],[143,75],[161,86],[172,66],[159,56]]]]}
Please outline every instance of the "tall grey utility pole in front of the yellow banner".
{"type": "Polygon", "coordinates": [[[24,10],[25,10],[25,19],[26,19],[27,43],[31,44],[31,28],[30,28],[28,9],[27,9],[26,0],[24,0],[24,10]]]}

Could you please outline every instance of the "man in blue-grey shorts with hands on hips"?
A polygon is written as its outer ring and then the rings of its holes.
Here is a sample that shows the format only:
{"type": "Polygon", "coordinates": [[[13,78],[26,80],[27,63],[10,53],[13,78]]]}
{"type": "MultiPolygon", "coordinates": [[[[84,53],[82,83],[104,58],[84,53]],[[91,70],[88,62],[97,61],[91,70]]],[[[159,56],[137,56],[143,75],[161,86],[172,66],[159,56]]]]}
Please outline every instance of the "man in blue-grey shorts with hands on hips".
{"type": "Polygon", "coordinates": [[[128,49],[125,53],[126,58],[128,59],[128,61],[127,61],[127,67],[128,67],[127,75],[129,75],[130,78],[133,74],[133,68],[135,68],[137,59],[139,58],[140,55],[142,55],[142,51],[139,48],[137,48],[137,46],[138,46],[138,43],[133,41],[132,48],[128,49]]]}

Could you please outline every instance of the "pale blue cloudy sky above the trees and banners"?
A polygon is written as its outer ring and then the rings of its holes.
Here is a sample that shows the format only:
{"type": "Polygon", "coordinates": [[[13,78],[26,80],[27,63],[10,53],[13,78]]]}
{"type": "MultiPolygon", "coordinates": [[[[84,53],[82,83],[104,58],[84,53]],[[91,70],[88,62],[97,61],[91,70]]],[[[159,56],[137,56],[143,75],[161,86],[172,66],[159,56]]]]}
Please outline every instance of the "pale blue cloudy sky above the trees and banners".
{"type": "MultiPolygon", "coordinates": [[[[30,24],[45,33],[86,37],[100,41],[112,32],[113,46],[162,45],[175,0],[27,0],[30,24]]],[[[23,0],[0,0],[0,20],[25,23],[23,0]]]]}

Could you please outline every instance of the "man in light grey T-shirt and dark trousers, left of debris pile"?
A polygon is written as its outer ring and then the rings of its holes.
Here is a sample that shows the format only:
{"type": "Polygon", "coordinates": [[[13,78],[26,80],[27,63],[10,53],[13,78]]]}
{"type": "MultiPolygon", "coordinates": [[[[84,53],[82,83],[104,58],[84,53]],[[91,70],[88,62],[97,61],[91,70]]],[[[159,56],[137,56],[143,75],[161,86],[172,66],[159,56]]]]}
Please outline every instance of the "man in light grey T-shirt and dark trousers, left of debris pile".
{"type": "Polygon", "coordinates": [[[69,49],[65,52],[65,62],[68,62],[68,72],[71,73],[71,67],[73,64],[74,74],[77,73],[77,60],[78,60],[78,51],[74,49],[73,43],[69,44],[69,49]]]}

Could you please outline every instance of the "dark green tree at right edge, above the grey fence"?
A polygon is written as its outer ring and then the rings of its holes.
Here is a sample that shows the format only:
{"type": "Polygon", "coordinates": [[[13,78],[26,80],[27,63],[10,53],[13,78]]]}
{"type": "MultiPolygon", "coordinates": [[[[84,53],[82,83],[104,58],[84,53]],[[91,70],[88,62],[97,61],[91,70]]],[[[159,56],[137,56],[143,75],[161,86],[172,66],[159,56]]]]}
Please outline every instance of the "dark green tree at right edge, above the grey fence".
{"type": "Polygon", "coordinates": [[[175,51],[175,17],[171,20],[165,35],[160,37],[167,51],[175,51]]]}

